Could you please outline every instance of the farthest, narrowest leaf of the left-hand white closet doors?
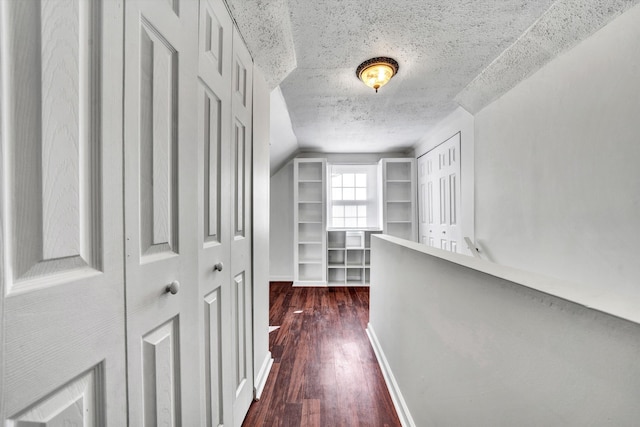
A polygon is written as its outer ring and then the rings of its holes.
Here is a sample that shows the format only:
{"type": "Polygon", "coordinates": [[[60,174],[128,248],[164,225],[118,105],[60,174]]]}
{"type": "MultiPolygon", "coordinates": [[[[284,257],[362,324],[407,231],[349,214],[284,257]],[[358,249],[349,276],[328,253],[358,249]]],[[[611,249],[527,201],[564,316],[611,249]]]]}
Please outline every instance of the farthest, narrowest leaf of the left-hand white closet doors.
{"type": "Polygon", "coordinates": [[[233,420],[239,426],[253,400],[251,276],[251,160],[253,63],[238,31],[233,32],[231,95],[231,335],[233,420]]]}

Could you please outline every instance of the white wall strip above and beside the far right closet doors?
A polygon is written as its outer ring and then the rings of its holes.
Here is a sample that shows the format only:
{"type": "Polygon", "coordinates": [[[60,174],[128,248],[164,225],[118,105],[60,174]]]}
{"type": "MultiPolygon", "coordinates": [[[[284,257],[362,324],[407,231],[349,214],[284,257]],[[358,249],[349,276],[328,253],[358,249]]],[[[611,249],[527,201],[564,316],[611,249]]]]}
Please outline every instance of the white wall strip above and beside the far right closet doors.
{"type": "MultiPolygon", "coordinates": [[[[415,145],[415,157],[417,159],[460,132],[460,203],[462,205],[460,233],[462,237],[469,237],[471,241],[475,238],[475,136],[473,123],[473,115],[464,108],[458,107],[415,145]]],[[[461,253],[470,254],[466,244],[463,245],[460,251],[461,253]]]]}

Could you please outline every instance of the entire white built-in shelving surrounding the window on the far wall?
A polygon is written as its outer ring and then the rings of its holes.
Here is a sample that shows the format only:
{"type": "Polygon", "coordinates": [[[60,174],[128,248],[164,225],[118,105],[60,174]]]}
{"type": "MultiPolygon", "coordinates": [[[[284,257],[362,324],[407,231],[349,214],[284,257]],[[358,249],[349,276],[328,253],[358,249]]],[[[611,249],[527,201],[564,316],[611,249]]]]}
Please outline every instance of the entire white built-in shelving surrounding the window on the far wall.
{"type": "Polygon", "coordinates": [[[327,229],[326,159],[294,160],[294,285],[367,286],[373,234],[416,240],[415,160],[379,167],[382,229],[327,229]]]}

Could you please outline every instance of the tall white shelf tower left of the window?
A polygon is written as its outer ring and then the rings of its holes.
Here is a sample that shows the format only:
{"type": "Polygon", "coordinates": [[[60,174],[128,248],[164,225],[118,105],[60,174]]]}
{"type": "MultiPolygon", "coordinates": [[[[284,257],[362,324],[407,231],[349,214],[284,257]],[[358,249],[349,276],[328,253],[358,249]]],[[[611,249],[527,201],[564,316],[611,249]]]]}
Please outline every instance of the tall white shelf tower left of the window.
{"type": "Polygon", "coordinates": [[[326,283],[326,160],[294,161],[294,281],[326,283]]]}

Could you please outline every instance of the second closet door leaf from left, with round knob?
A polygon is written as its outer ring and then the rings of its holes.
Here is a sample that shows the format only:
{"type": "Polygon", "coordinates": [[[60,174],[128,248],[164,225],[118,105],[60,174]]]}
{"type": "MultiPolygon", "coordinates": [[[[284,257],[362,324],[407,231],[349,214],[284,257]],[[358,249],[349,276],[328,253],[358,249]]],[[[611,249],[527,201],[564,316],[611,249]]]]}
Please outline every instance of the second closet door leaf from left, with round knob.
{"type": "Polygon", "coordinates": [[[125,5],[129,424],[200,424],[197,0],[125,5]]]}

